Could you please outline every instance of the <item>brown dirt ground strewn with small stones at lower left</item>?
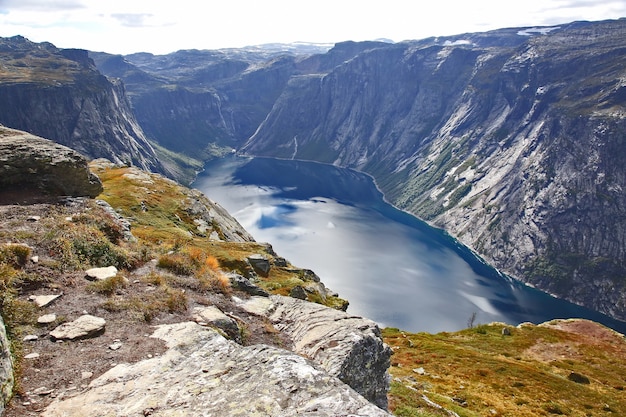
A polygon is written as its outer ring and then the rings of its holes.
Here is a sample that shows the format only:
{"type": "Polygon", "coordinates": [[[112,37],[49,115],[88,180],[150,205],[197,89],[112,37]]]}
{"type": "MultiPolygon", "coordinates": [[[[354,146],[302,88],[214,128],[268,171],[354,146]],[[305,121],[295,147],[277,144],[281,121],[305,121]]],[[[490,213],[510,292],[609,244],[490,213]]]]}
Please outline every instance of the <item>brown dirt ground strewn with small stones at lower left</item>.
{"type": "MultiPolygon", "coordinates": [[[[136,312],[107,311],[102,306],[107,296],[89,290],[90,281],[85,278],[83,271],[60,272],[53,268],[53,257],[38,245],[42,241],[42,235],[49,233],[43,226],[48,216],[72,216],[82,209],[81,205],[49,203],[0,205],[0,244],[27,243],[32,248],[32,255],[39,257],[37,262],[29,262],[23,271],[41,277],[41,283],[21,288],[19,299],[26,302],[31,295],[61,294],[52,304],[37,311],[38,316],[56,314],[57,320],[54,323],[26,326],[26,331],[19,335],[21,339],[29,335],[37,336],[34,341],[22,343],[22,356],[36,353],[38,357],[22,359],[20,378],[15,395],[6,408],[6,417],[38,416],[52,400],[80,392],[94,378],[116,364],[133,363],[162,354],[165,351],[164,342],[150,337],[153,327],[192,320],[190,312],[195,306],[215,305],[235,317],[246,329],[244,344],[290,346],[290,341],[279,334],[266,319],[241,310],[230,296],[221,293],[186,289],[186,311],[160,313],[150,322],[138,317],[136,312]],[[50,338],[49,333],[60,322],[75,320],[83,314],[104,318],[104,333],[78,341],[55,342],[50,338]],[[115,349],[115,344],[121,344],[121,347],[115,349]]],[[[142,281],[141,277],[154,268],[155,263],[148,262],[143,267],[125,273],[127,285],[118,289],[115,297],[149,295],[155,290],[155,286],[142,281]]],[[[245,293],[238,291],[234,291],[232,295],[247,297],[245,293]]]]}

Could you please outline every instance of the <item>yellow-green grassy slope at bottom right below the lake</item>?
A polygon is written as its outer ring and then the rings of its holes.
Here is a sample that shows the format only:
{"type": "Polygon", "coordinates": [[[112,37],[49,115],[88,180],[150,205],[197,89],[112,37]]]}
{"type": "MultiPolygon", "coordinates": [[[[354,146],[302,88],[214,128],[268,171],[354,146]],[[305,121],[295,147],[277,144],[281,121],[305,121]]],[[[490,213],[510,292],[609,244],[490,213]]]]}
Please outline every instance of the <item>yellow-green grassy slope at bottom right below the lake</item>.
{"type": "Polygon", "coordinates": [[[456,333],[385,329],[398,416],[623,416],[626,341],[599,324],[480,325],[456,333]],[[421,368],[421,369],[420,369],[421,368]],[[589,383],[569,379],[572,373],[589,383]]]}

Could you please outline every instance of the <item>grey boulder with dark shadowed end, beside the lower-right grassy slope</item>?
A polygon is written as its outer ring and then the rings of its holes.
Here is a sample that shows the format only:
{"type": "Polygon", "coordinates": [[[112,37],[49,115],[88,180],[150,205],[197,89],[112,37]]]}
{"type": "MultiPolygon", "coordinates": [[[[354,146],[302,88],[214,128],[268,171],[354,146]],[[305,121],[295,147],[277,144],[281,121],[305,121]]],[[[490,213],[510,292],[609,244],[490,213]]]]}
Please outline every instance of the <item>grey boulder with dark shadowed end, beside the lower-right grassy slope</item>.
{"type": "Polygon", "coordinates": [[[311,358],[381,408],[387,408],[387,370],[391,350],[378,325],[362,317],[279,295],[251,297],[242,303],[269,318],[293,341],[293,350],[311,358]]]}

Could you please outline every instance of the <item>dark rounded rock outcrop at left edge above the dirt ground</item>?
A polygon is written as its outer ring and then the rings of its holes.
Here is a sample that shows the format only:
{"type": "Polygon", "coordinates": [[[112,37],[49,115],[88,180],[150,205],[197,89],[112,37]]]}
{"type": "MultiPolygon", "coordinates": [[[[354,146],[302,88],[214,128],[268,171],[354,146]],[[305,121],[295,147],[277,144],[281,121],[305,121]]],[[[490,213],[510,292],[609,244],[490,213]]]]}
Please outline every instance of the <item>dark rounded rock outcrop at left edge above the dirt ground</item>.
{"type": "Polygon", "coordinates": [[[89,196],[102,183],[85,157],[65,146],[0,127],[0,194],[12,190],[47,196],[89,196]]]}

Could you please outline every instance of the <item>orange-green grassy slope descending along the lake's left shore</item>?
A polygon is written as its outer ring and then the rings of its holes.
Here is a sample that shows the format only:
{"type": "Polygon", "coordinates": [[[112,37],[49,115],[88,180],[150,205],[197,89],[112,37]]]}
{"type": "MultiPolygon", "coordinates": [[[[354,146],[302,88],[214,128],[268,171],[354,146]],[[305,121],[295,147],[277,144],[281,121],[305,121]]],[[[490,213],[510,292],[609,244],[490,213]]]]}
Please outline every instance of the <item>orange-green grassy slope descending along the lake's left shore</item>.
{"type": "MultiPolygon", "coordinates": [[[[274,255],[267,252],[267,245],[257,242],[225,242],[209,240],[197,235],[197,225],[184,210],[185,187],[163,177],[151,175],[154,184],[146,186],[140,178],[126,175],[131,168],[98,170],[92,166],[104,185],[100,198],[107,201],[123,216],[132,220],[133,234],[140,241],[158,252],[200,251],[215,257],[226,271],[242,275],[250,272],[246,259],[249,255],[263,253],[274,263],[274,255]],[[155,192],[154,190],[158,190],[155,192]]],[[[214,230],[221,234],[219,226],[214,230]]],[[[276,294],[287,295],[298,285],[305,285],[302,270],[287,264],[273,266],[258,285],[276,294]]],[[[338,297],[309,294],[309,301],[321,302],[330,307],[341,307],[345,301],[338,297]]]]}

